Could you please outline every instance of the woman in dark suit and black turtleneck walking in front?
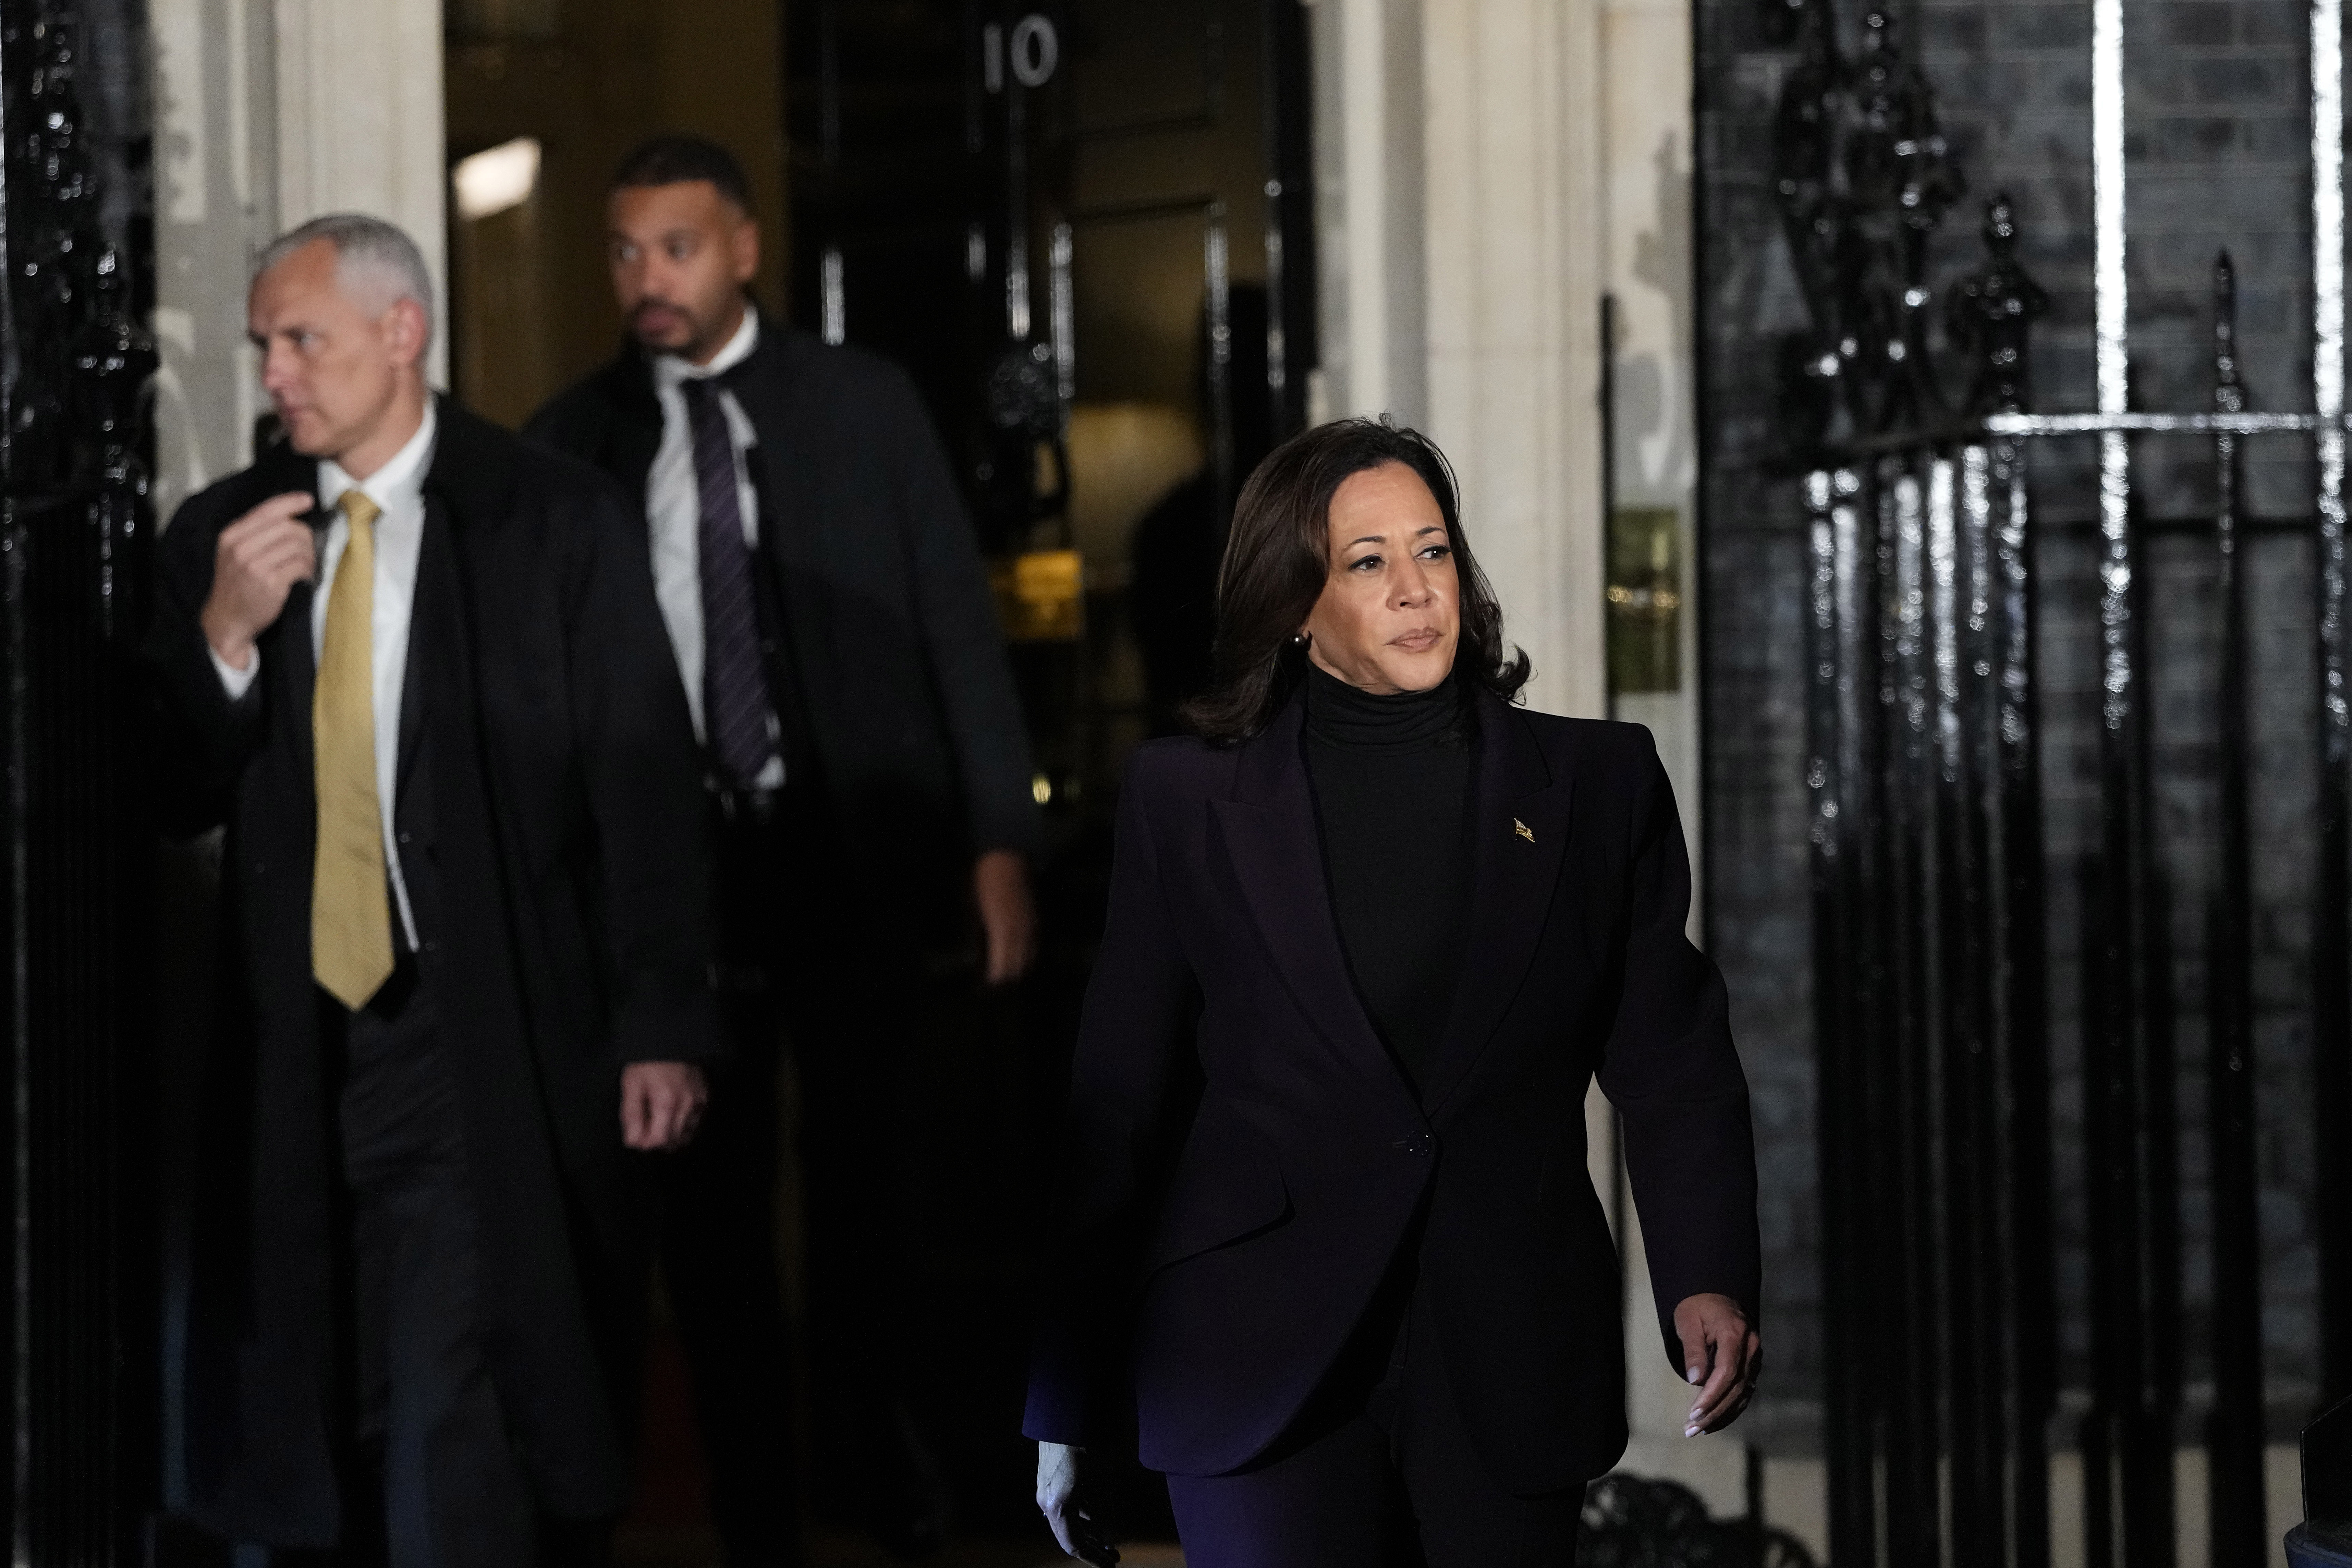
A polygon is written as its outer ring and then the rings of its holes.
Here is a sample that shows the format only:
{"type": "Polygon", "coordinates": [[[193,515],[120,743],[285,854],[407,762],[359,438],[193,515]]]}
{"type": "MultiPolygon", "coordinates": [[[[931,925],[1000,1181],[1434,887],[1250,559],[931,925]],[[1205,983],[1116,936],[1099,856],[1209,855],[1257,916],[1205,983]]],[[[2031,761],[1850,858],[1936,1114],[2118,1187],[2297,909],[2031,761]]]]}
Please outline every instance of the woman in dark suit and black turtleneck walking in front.
{"type": "Polygon", "coordinates": [[[1428,440],[1343,421],[1251,475],[1073,1070],[1025,1420],[1073,1554],[1131,1396],[1192,1568],[1571,1563],[1625,1448],[1595,1074],[1689,1432],[1748,1403],[1748,1084],[1675,799],[1649,731],[1515,708],[1503,649],[1428,440]]]}

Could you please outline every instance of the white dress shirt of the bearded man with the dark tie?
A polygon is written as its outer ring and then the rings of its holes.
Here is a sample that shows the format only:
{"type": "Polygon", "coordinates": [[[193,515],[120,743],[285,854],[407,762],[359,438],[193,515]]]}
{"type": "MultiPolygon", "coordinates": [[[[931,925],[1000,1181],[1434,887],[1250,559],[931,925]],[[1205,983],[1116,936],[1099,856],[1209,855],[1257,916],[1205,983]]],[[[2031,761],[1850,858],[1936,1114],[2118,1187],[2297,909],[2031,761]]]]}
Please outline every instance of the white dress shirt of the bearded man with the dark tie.
{"type": "MultiPolygon", "coordinates": [[[[677,651],[677,675],[687,682],[687,712],[694,715],[694,738],[703,738],[703,498],[694,482],[694,425],[687,421],[687,381],[724,374],[760,348],[760,313],[746,308],[743,324],[727,339],[710,364],[689,364],[677,355],[654,357],[654,397],[661,400],[661,449],[644,473],[644,522],[654,541],[654,599],[670,628],[677,651]]],[[[720,388],[727,435],[736,458],[736,510],[743,517],[743,543],[760,545],[760,491],[750,482],[750,451],[760,435],[736,395],[720,388]]],[[[779,748],[781,752],[781,748],[779,748]]],[[[760,790],[783,785],[783,757],[769,757],[760,790]]]]}

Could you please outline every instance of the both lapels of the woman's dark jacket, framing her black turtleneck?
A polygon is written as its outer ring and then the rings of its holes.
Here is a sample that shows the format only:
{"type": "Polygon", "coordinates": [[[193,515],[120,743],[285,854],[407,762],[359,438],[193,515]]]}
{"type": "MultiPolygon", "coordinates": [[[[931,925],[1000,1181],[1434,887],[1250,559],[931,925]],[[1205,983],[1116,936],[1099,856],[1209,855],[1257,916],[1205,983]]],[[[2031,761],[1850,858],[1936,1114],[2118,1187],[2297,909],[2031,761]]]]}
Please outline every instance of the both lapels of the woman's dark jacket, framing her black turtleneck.
{"type": "MultiPolygon", "coordinates": [[[[1552,776],[1512,708],[1486,691],[1475,705],[1470,931],[1446,1039],[1421,1091],[1423,1112],[1432,1117],[1468,1077],[1526,980],[1569,839],[1571,780],[1552,776]]],[[[1214,802],[1214,811],[1258,933],[1305,1016],[1362,1070],[1404,1086],[1348,976],[1301,750],[1303,722],[1305,705],[1294,696],[1242,748],[1232,799],[1214,802]]]]}

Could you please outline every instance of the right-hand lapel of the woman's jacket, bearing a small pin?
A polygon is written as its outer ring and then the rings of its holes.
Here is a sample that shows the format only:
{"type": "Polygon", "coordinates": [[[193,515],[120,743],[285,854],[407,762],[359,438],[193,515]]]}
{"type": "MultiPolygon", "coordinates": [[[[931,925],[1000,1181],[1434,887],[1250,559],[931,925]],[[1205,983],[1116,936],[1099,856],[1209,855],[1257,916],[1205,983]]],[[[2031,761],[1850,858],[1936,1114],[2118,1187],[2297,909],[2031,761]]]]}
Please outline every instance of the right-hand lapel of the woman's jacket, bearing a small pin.
{"type": "Polygon", "coordinates": [[[1432,1114],[1510,1013],[1543,938],[1569,846],[1573,780],[1552,778],[1536,738],[1505,703],[1479,693],[1477,708],[1470,931],[1446,1044],[1423,1093],[1432,1114]]]}

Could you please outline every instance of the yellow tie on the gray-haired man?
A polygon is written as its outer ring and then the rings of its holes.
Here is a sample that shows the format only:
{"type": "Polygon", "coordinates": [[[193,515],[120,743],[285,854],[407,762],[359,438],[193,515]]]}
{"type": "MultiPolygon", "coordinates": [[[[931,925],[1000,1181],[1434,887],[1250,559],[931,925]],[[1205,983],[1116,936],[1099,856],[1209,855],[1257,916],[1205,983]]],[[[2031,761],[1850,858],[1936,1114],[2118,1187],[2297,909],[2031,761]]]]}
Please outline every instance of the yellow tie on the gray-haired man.
{"type": "Polygon", "coordinates": [[[310,973],[358,1011],[393,973],[393,910],[383,886],[383,816],[376,802],[376,517],[346,489],[336,501],[350,543],[327,590],[327,635],[310,689],[318,766],[318,865],[310,877],[310,973]]]}

